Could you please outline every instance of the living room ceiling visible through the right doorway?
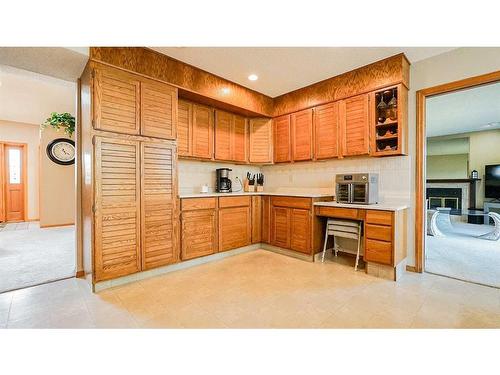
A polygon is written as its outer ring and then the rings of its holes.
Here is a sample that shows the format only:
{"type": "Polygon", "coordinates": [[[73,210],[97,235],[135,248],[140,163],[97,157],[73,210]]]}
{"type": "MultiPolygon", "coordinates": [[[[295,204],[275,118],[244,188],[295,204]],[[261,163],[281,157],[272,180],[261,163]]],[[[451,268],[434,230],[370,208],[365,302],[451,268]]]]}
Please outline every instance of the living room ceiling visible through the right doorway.
{"type": "Polygon", "coordinates": [[[431,97],[425,111],[427,137],[500,129],[500,83],[431,97]]]}

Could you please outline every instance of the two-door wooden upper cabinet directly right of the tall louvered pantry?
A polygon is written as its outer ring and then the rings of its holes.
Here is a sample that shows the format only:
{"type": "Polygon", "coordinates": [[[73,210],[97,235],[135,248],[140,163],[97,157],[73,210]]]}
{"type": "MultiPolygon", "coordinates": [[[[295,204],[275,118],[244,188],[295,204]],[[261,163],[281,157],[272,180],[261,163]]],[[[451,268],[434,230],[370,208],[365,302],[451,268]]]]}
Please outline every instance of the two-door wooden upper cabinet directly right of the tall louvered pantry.
{"type": "Polygon", "coordinates": [[[213,110],[185,100],[179,100],[177,147],[180,157],[213,159],[213,110]]]}

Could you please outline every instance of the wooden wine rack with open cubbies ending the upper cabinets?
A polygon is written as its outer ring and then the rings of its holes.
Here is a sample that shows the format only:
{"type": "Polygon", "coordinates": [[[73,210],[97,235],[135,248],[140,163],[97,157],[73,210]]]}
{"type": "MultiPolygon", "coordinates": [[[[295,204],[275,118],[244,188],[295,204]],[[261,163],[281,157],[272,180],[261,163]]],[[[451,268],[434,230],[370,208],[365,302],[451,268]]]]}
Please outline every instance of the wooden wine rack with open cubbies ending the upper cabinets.
{"type": "Polygon", "coordinates": [[[408,91],[402,85],[372,93],[371,154],[403,155],[406,152],[404,131],[408,91]]]}

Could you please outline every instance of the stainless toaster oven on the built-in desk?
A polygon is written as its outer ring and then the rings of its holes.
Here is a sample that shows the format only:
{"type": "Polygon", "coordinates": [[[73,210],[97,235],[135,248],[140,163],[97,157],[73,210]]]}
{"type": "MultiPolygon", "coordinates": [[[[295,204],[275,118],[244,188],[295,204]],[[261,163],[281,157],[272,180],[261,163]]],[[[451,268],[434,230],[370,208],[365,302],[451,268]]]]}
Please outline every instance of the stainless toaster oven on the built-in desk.
{"type": "Polygon", "coordinates": [[[339,203],[378,203],[378,173],[338,174],[335,183],[339,203]]]}

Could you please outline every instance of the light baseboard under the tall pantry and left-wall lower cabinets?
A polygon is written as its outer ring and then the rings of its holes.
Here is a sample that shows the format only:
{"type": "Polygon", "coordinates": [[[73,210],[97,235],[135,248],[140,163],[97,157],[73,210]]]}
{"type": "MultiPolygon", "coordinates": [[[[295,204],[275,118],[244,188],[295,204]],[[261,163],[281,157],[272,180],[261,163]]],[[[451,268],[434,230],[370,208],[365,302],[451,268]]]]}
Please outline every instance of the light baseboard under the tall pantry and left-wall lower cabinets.
{"type": "Polygon", "coordinates": [[[100,292],[100,291],[103,291],[105,289],[113,288],[113,287],[124,285],[124,284],[129,284],[129,283],[134,282],[134,281],[149,279],[149,278],[154,277],[154,276],[164,275],[164,274],[167,274],[170,272],[199,266],[199,265],[205,264],[205,263],[212,263],[212,262],[224,259],[224,258],[228,258],[228,257],[232,257],[235,255],[259,250],[261,248],[262,248],[261,244],[257,243],[257,244],[229,250],[229,251],[224,251],[221,253],[207,255],[207,256],[201,257],[201,258],[186,260],[183,262],[170,264],[168,266],[158,267],[158,268],[148,270],[148,271],[137,272],[137,273],[134,273],[132,275],[118,277],[118,278],[113,279],[113,280],[99,281],[99,282],[94,284],[93,291],[100,292]]]}

